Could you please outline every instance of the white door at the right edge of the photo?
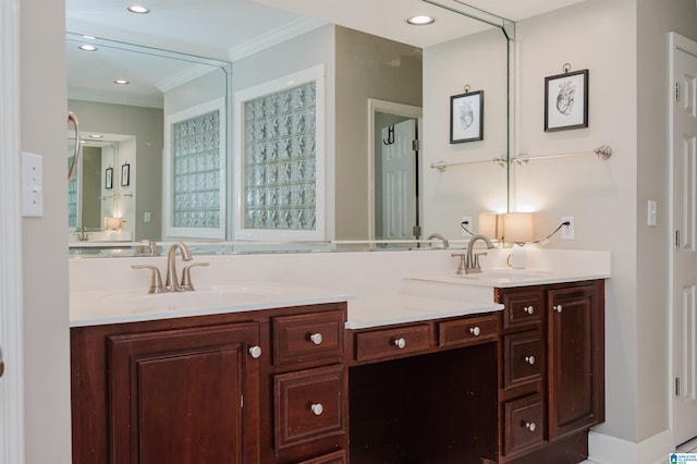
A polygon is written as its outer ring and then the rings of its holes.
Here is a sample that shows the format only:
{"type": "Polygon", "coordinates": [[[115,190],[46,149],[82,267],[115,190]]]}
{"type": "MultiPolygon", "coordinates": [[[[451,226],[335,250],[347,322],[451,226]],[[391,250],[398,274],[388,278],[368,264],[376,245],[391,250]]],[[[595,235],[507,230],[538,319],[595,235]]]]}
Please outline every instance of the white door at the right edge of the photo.
{"type": "MultiPolygon", "coordinates": [[[[672,40],[673,444],[697,437],[697,42],[672,40]]],[[[674,39],[674,40],[673,40],[674,39]]]]}

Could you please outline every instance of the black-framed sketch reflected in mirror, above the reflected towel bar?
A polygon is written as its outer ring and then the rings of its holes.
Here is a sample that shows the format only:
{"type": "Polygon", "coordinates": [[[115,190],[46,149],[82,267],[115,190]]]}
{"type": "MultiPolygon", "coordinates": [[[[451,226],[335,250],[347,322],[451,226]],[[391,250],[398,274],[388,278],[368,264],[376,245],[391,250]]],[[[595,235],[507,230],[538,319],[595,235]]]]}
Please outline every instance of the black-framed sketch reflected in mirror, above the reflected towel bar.
{"type": "Polygon", "coordinates": [[[450,97],[450,143],[484,139],[484,90],[450,97]]]}

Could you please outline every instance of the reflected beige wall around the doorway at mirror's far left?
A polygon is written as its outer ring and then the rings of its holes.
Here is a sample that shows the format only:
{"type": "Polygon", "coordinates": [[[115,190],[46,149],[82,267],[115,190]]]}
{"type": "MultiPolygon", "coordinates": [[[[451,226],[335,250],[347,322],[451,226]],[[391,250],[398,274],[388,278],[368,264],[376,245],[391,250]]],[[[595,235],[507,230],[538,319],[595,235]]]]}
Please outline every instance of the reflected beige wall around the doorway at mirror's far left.
{"type": "MultiPolygon", "coordinates": [[[[129,190],[136,195],[135,240],[160,240],[162,210],[162,141],[163,114],[159,108],[70,100],[68,106],[77,114],[85,132],[108,132],[134,135],[137,172],[132,172],[129,190]],[[135,185],[133,183],[135,180],[135,185]],[[144,222],[144,212],[151,212],[151,222],[144,222]]],[[[118,167],[120,168],[120,166],[118,167]]],[[[134,167],[132,166],[132,169],[134,167]]],[[[114,182],[121,173],[114,171],[114,182]]]]}

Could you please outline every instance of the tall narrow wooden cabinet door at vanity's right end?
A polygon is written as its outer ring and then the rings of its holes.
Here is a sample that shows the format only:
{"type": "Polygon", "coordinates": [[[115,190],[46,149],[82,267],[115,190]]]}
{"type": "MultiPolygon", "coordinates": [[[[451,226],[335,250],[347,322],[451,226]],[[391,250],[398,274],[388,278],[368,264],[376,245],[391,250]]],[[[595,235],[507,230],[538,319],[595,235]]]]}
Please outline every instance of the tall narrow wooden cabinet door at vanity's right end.
{"type": "Polygon", "coordinates": [[[548,293],[549,439],[602,422],[604,305],[602,284],[548,293]]]}

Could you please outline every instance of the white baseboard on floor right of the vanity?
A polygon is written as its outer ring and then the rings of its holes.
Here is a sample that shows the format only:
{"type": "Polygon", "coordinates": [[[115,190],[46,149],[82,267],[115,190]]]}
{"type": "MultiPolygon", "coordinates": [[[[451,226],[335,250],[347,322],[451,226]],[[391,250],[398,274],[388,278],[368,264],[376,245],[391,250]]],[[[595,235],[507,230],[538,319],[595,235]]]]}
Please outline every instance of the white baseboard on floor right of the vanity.
{"type": "Polygon", "coordinates": [[[588,460],[598,464],[668,464],[673,451],[670,430],[638,443],[592,430],[588,434],[588,460]]]}

